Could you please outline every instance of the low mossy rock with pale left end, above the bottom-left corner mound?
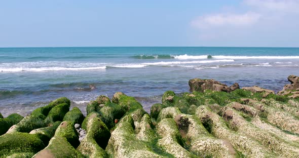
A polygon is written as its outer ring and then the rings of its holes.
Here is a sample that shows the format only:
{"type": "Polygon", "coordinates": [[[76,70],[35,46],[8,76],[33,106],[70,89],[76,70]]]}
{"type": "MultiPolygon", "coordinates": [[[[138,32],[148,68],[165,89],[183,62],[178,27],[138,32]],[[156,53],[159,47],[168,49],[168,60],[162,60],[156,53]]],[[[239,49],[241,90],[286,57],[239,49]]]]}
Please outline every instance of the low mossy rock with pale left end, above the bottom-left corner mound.
{"type": "Polygon", "coordinates": [[[46,127],[47,124],[45,124],[44,120],[40,117],[29,115],[24,117],[18,124],[12,126],[7,133],[12,132],[25,132],[29,133],[30,131],[42,127],[46,127]]]}

